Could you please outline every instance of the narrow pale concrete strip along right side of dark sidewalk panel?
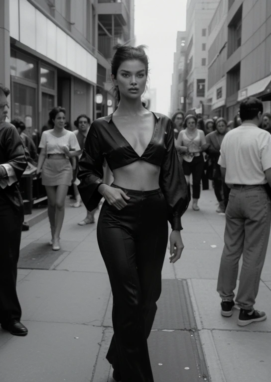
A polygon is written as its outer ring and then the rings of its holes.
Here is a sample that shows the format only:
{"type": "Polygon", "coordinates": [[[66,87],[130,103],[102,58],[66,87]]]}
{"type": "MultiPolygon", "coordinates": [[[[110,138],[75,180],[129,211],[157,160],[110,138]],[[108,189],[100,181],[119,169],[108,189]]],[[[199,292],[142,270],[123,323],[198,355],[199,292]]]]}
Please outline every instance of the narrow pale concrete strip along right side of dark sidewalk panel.
{"type": "Polygon", "coordinates": [[[190,293],[191,303],[193,306],[196,324],[198,327],[199,338],[200,338],[202,350],[205,356],[205,361],[209,371],[210,379],[211,381],[214,381],[214,382],[227,382],[223,369],[222,369],[220,358],[216,350],[212,330],[203,329],[193,285],[190,279],[187,280],[187,285],[188,285],[188,289],[190,293]]]}

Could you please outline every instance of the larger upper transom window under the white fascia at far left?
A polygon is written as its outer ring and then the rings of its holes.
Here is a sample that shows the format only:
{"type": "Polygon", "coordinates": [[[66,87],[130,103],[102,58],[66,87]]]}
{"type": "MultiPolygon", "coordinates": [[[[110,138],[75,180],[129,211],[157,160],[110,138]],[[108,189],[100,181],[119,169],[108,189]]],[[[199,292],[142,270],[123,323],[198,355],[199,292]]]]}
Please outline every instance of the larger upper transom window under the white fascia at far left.
{"type": "Polygon", "coordinates": [[[11,76],[37,83],[37,62],[11,49],[10,74],[11,76]]]}

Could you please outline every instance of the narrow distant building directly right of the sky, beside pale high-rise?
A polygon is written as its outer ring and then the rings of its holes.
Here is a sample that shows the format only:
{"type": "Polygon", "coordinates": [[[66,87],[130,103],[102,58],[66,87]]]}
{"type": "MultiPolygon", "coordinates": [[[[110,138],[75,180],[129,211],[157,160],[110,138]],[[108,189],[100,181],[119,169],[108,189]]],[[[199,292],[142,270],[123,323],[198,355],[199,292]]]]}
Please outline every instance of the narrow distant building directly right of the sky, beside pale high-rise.
{"type": "Polygon", "coordinates": [[[186,32],[178,31],[174,53],[173,74],[170,91],[170,115],[185,109],[185,47],[186,32]]]}

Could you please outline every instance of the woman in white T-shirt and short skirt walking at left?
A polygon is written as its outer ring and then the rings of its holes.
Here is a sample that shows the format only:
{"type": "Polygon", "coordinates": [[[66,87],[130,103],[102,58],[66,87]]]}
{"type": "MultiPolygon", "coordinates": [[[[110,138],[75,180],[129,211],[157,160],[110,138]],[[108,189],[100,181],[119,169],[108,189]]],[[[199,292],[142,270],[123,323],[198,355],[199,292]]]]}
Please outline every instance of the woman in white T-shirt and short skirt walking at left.
{"type": "Polygon", "coordinates": [[[73,169],[76,167],[75,158],[72,158],[72,166],[65,150],[79,151],[80,146],[74,133],[65,129],[66,110],[63,107],[54,107],[49,113],[49,118],[54,127],[43,131],[41,135],[37,174],[42,171],[41,181],[48,197],[52,249],[58,251],[65,198],[72,184],[73,169]]]}

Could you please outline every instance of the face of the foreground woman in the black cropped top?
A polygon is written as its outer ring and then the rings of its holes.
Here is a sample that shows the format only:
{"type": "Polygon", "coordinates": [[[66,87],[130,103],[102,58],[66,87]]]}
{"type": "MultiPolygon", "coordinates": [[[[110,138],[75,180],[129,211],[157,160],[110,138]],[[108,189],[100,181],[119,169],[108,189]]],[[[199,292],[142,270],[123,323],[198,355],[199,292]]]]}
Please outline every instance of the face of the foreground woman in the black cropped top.
{"type": "Polygon", "coordinates": [[[114,85],[117,85],[121,97],[136,99],[144,93],[147,82],[145,65],[139,60],[123,62],[117,72],[117,79],[112,75],[114,85]]]}

